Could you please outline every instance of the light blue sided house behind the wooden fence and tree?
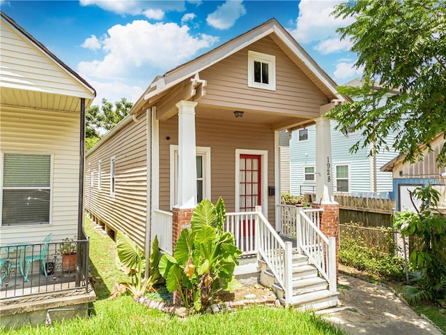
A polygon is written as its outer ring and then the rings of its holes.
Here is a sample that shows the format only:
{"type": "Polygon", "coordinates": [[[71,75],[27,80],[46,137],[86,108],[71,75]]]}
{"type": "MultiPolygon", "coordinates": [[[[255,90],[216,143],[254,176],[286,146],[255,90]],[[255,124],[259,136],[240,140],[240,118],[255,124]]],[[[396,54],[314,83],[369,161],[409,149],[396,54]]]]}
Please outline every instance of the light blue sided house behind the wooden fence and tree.
{"type": "MultiPolygon", "coordinates": [[[[357,86],[359,79],[344,86],[357,86]]],[[[380,171],[380,167],[397,156],[394,151],[380,150],[376,156],[369,156],[371,147],[360,148],[352,154],[349,149],[361,138],[361,133],[344,134],[335,130],[336,121],[330,121],[332,139],[332,169],[335,192],[351,193],[355,196],[392,198],[392,174],[380,171]]],[[[389,146],[394,136],[387,137],[389,146]]],[[[314,193],[316,187],[316,129],[308,126],[293,131],[291,148],[291,193],[301,195],[314,193]]]]}

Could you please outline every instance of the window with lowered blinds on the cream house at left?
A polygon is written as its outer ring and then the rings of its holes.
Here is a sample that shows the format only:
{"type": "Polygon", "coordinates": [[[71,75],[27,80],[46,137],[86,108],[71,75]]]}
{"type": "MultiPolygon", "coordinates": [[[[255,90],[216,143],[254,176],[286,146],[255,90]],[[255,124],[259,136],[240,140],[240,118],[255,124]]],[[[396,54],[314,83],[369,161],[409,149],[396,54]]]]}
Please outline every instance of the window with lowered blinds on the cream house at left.
{"type": "Polygon", "coordinates": [[[3,154],[1,225],[49,225],[52,155],[3,154]]]}

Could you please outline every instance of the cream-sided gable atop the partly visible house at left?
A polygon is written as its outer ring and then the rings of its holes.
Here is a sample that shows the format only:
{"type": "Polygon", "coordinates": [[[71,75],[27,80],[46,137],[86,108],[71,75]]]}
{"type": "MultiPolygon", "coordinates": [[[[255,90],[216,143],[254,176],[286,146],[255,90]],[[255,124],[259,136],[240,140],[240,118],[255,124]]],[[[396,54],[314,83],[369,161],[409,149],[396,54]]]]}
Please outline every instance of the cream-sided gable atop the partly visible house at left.
{"type": "MultiPolygon", "coordinates": [[[[86,105],[93,101],[96,92],[86,80],[8,15],[3,12],[0,15],[2,89],[86,98],[86,105]]],[[[2,94],[2,100],[6,94],[2,94]]]]}

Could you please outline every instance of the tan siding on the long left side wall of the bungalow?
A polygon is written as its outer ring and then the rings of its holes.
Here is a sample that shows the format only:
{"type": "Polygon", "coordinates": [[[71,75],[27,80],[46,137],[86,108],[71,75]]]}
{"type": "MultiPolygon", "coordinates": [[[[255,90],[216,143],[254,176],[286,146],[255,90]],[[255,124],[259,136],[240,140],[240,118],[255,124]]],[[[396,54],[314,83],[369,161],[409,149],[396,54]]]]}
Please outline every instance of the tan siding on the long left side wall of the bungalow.
{"type": "Polygon", "coordinates": [[[146,233],[146,113],[125,125],[86,157],[85,207],[116,232],[144,248],[146,233]],[[110,195],[110,158],[115,156],[115,195],[110,195]],[[98,191],[98,161],[102,160],[98,191]],[[91,174],[93,173],[93,187],[91,174]]]}

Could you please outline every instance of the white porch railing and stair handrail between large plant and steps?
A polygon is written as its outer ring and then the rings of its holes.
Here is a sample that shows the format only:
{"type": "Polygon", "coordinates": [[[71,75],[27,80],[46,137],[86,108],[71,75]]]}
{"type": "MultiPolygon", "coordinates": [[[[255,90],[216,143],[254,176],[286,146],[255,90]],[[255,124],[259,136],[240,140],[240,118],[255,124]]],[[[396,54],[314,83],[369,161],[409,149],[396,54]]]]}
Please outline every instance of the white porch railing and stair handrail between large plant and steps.
{"type": "Polygon", "coordinates": [[[293,296],[291,242],[282,240],[260,209],[246,213],[226,213],[224,230],[233,232],[236,246],[244,254],[259,253],[284,288],[285,304],[288,306],[293,296]]]}

